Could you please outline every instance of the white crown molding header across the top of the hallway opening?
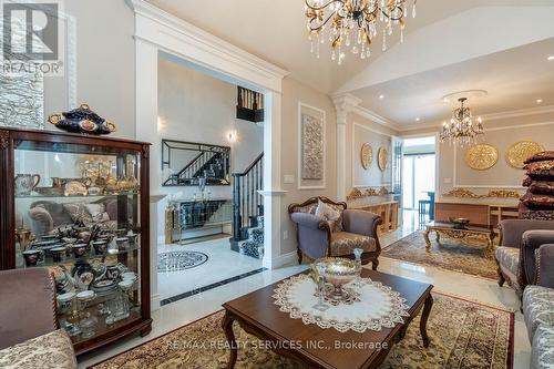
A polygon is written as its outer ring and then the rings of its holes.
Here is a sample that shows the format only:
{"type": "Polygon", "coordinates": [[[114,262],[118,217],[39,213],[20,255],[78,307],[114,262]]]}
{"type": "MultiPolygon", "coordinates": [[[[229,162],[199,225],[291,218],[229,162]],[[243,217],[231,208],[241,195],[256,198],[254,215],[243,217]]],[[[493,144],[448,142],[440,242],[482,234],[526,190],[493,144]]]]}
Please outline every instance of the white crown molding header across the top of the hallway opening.
{"type": "MultiPolygon", "coordinates": [[[[261,58],[246,52],[234,44],[224,41],[185,20],[175,17],[144,0],[125,0],[135,13],[135,37],[157,44],[162,48],[165,42],[178,41],[194,45],[202,52],[239,64],[265,79],[283,80],[288,71],[269,63],[261,58]],[[142,17],[144,23],[137,16],[142,17]],[[153,23],[153,24],[152,24],[153,23]]],[[[193,62],[195,60],[192,60],[193,62]]]]}

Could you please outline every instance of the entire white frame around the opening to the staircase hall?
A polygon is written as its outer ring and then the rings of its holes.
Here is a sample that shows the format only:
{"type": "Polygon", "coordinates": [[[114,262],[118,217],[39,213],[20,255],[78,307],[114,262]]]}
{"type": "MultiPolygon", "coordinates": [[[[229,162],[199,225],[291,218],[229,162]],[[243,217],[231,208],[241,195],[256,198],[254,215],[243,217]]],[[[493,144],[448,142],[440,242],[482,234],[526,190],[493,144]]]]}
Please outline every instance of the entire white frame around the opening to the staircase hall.
{"type": "MultiPolygon", "coordinates": [[[[223,41],[144,0],[126,0],[135,13],[135,122],[136,139],[152,142],[157,133],[157,69],[161,52],[193,63],[227,81],[261,91],[266,101],[264,122],[264,212],[265,252],[263,265],[278,267],[280,256],[280,143],[281,89],[287,71],[223,41]]],[[[157,140],[160,141],[160,140],[157,140]]],[[[150,185],[156,195],[161,185],[160,143],[153,142],[150,185]]],[[[152,212],[157,212],[154,204],[152,212]]],[[[157,248],[157,226],[151,227],[157,248]]],[[[157,253],[151,253],[151,274],[155,278],[157,253]]],[[[157,281],[152,280],[152,306],[158,308],[157,281]]]]}

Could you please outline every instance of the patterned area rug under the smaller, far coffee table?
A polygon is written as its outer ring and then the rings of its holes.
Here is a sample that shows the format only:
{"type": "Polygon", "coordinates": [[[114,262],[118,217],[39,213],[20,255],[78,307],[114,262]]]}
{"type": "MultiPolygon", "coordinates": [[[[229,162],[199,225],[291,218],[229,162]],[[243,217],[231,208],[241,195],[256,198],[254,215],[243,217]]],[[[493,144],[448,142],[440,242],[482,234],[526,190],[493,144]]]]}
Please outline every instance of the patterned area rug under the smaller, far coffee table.
{"type": "Polygon", "coordinates": [[[462,245],[444,237],[439,244],[433,236],[431,234],[429,252],[423,232],[414,232],[384,247],[381,256],[496,279],[496,262],[484,256],[484,247],[462,245]]]}

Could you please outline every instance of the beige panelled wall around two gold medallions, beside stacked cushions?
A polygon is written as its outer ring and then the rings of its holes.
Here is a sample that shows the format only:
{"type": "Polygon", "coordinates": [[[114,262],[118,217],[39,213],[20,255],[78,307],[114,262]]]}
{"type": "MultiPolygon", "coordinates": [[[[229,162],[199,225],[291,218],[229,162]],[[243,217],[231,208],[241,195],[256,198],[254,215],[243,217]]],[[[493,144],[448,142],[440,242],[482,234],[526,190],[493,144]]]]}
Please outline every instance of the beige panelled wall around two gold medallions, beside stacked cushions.
{"type": "MultiPolygon", "coordinates": [[[[497,163],[489,170],[476,171],[470,168],[464,156],[466,148],[451,146],[449,143],[439,144],[439,173],[438,198],[439,201],[473,202],[473,203],[502,203],[515,204],[516,199],[485,198],[481,201],[456,199],[443,197],[442,194],[455,187],[468,188],[478,194],[485,194],[490,189],[521,189],[524,174],[522,170],[510,166],[505,154],[510,145],[523,140],[538,142],[547,150],[554,148],[554,114],[536,114],[509,119],[484,121],[485,135],[482,143],[490,144],[499,151],[497,163]]],[[[402,135],[438,133],[438,129],[423,129],[402,132],[402,135]]]]}

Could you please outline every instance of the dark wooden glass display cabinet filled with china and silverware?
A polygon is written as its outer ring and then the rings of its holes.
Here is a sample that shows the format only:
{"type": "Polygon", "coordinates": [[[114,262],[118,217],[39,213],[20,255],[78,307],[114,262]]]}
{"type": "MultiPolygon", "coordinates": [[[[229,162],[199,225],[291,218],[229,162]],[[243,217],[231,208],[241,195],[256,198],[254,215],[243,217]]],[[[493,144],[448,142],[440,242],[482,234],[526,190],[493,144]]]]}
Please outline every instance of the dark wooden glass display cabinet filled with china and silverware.
{"type": "Polygon", "coordinates": [[[152,330],[148,150],[0,129],[0,268],[52,271],[76,355],[152,330]]]}

